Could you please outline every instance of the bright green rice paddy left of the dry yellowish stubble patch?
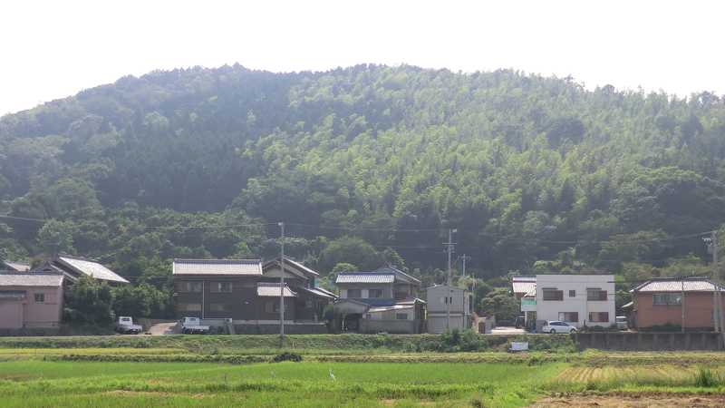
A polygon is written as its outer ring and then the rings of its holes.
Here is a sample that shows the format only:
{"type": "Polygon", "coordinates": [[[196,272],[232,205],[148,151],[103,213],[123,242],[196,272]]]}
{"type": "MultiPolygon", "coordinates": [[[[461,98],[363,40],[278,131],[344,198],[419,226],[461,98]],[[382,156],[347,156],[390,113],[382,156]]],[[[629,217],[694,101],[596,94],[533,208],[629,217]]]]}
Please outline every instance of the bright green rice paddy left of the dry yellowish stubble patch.
{"type": "Polygon", "coordinates": [[[0,364],[4,406],[521,406],[560,364],[0,364]]]}

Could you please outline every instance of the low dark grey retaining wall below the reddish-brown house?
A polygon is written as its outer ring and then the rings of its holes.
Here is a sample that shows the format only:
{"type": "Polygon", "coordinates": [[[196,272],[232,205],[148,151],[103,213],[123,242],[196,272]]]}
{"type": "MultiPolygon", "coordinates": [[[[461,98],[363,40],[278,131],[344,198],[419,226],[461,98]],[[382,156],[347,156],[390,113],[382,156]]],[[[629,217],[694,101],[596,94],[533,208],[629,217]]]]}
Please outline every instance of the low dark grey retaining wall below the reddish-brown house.
{"type": "Polygon", "coordinates": [[[631,351],[721,349],[720,334],[714,332],[601,332],[578,333],[574,337],[580,349],[631,351]]]}

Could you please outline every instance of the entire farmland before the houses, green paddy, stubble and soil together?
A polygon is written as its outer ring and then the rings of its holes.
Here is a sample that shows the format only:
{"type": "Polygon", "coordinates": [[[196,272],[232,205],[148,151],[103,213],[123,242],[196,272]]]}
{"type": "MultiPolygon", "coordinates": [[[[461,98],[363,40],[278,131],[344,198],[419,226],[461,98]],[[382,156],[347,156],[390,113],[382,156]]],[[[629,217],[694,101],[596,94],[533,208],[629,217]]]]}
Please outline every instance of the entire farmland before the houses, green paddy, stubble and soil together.
{"type": "Polygon", "coordinates": [[[311,345],[285,348],[301,362],[275,363],[280,349],[195,341],[5,340],[2,405],[725,406],[725,354],[714,352],[512,355],[311,345]]]}

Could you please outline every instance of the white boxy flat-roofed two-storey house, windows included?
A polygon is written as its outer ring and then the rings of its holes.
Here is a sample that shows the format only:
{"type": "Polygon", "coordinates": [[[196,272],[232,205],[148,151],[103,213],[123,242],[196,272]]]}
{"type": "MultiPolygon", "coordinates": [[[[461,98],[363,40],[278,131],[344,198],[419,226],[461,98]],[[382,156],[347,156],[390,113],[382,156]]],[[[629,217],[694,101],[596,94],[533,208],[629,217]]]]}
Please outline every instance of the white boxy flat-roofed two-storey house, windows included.
{"type": "Polygon", "coordinates": [[[614,275],[536,275],[536,321],[614,325],[614,275]]]}

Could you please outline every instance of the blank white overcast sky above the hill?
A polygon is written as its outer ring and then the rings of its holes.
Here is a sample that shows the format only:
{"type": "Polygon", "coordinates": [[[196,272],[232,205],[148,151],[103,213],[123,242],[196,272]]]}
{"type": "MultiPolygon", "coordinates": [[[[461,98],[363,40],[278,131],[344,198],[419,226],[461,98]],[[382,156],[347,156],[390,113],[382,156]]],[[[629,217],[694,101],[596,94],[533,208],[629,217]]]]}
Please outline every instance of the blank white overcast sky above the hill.
{"type": "Polygon", "coordinates": [[[155,69],[409,63],[725,93],[720,1],[0,3],[0,114],[155,69]]]}

